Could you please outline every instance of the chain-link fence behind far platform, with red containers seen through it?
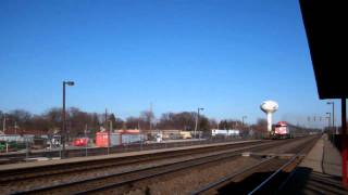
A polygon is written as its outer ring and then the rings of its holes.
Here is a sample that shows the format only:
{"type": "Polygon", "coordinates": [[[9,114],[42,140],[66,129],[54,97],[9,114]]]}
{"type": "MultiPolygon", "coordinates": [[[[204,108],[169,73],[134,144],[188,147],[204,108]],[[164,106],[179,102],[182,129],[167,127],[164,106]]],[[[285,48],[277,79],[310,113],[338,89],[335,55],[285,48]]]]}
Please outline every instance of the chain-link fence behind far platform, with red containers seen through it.
{"type": "Polygon", "coordinates": [[[123,135],[120,142],[98,145],[98,138],[86,134],[85,136],[69,136],[65,151],[63,151],[61,136],[34,136],[34,135],[1,135],[0,136],[0,164],[34,161],[46,159],[60,159],[62,157],[84,157],[117,154],[126,152],[183,147],[199,144],[212,144],[233,141],[261,139],[258,134],[240,135],[201,135],[198,139],[161,140],[148,139],[147,135],[123,135]],[[111,145],[111,146],[109,146],[111,145]]]}

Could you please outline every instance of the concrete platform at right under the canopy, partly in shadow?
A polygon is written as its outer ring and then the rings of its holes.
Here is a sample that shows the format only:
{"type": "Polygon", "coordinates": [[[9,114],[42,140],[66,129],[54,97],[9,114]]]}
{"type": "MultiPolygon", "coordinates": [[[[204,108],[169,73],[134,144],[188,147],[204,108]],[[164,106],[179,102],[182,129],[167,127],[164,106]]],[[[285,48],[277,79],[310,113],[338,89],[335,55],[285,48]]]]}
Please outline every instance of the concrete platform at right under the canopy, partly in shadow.
{"type": "Polygon", "coordinates": [[[278,194],[346,194],[341,184],[341,158],[324,134],[294,171],[278,194]]]}

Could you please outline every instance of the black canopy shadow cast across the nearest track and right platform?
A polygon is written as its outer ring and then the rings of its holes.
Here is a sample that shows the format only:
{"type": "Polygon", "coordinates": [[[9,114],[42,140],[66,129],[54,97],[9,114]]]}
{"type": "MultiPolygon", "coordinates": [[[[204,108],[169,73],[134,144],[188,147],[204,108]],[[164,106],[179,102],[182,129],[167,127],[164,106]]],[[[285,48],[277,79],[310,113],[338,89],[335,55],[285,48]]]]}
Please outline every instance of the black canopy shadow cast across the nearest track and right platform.
{"type": "MultiPolygon", "coordinates": [[[[221,187],[219,194],[248,194],[273,172],[256,172],[240,182],[232,182],[221,187]]],[[[348,195],[340,182],[340,177],[312,171],[310,168],[298,167],[291,177],[287,172],[281,172],[268,185],[256,194],[337,194],[348,195]],[[287,180],[288,179],[288,180],[287,180]],[[283,185],[284,181],[286,184],[283,185]],[[282,187],[281,187],[282,186],[282,187]]]]}

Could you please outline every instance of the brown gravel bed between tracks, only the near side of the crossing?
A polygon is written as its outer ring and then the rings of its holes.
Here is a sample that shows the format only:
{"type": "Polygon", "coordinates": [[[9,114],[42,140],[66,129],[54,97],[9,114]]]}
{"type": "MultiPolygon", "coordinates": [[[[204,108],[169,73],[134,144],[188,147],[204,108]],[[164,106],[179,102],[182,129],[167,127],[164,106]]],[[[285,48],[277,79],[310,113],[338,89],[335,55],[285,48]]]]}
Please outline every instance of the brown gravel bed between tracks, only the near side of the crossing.
{"type": "Polygon", "coordinates": [[[99,194],[189,194],[194,188],[199,188],[211,181],[225,177],[232,172],[239,171],[241,168],[254,165],[258,161],[259,159],[256,158],[240,156],[234,158],[233,160],[220,161],[202,165],[192,169],[181,170],[174,173],[135,183],[133,186],[100,192],[99,194]]]}

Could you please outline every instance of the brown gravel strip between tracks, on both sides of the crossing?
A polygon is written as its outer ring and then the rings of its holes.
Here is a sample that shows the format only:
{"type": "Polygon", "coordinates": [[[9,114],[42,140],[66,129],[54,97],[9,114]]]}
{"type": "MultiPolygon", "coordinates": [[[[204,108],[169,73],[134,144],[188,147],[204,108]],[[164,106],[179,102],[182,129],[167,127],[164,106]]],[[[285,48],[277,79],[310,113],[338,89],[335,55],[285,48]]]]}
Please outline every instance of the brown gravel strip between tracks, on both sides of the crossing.
{"type": "MultiPolygon", "coordinates": [[[[294,152],[298,146],[308,142],[308,139],[300,140],[295,143],[273,147],[263,151],[263,153],[277,153],[283,154],[286,152],[294,152]]],[[[215,166],[196,168],[188,171],[181,171],[176,173],[177,177],[167,176],[166,178],[154,181],[146,187],[134,187],[129,191],[128,195],[163,195],[163,194],[190,194],[192,191],[198,190],[212,181],[216,181],[227,174],[239,171],[248,166],[259,162],[260,159],[252,157],[239,157],[237,159],[222,162],[215,166]]],[[[115,193],[115,192],[112,192],[115,193]]],[[[112,194],[110,193],[110,194],[112,194]]],[[[109,193],[108,193],[109,194],[109,193]]]]}

